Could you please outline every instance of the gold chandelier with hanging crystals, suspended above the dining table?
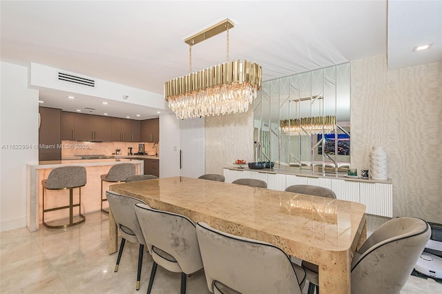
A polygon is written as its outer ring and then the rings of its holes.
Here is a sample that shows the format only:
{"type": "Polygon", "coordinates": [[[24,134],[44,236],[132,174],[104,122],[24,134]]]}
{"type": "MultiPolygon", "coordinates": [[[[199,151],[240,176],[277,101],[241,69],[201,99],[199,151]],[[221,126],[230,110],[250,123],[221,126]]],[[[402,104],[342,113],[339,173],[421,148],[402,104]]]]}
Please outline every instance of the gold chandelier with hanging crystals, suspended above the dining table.
{"type": "Polygon", "coordinates": [[[184,40],[189,44],[189,75],[164,83],[164,98],[179,119],[246,112],[261,88],[262,69],[250,61],[229,61],[229,19],[184,40]],[[227,62],[192,72],[192,46],[226,30],[227,62]]]}

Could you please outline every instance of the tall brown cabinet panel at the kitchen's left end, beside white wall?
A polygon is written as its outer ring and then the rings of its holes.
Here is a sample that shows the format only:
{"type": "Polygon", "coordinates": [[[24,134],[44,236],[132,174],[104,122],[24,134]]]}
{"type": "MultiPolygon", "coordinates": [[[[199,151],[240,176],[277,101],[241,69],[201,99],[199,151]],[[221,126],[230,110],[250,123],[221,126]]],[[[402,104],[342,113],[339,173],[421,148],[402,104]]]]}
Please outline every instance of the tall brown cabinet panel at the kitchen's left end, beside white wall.
{"type": "Polygon", "coordinates": [[[61,109],[39,107],[39,160],[61,159],[61,109]]]}

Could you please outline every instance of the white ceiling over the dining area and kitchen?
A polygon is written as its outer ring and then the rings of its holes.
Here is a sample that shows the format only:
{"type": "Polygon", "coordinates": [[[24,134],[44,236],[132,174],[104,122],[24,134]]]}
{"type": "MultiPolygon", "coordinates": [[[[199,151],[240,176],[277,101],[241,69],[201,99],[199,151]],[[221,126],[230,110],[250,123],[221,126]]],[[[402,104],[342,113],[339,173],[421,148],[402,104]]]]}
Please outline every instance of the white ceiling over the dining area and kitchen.
{"type": "MultiPolygon", "coordinates": [[[[391,68],[442,60],[442,1],[1,1],[0,9],[1,61],[160,94],[164,81],[189,73],[185,37],[225,18],[235,23],[230,59],[260,63],[264,81],[387,53],[391,68]],[[411,52],[423,42],[432,48],[411,52]]],[[[192,48],[193,71],[225,61],[226,34],[192,48]]],[[[40,99],[98,115],[157,115],[97,97],[68,101],[67,94],[44,90],[40,99]]]]}

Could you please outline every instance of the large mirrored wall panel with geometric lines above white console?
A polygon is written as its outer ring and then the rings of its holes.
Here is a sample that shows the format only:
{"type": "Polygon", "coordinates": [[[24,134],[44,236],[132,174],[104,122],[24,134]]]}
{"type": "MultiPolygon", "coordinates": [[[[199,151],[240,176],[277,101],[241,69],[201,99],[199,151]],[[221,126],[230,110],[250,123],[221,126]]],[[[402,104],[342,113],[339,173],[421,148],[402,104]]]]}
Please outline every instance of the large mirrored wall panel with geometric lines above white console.
{"type": "Polygon", "coordinates": [[[276,169],[347,173],[350,64],[262,83],[253,101],[256,161],[276,169]]]}

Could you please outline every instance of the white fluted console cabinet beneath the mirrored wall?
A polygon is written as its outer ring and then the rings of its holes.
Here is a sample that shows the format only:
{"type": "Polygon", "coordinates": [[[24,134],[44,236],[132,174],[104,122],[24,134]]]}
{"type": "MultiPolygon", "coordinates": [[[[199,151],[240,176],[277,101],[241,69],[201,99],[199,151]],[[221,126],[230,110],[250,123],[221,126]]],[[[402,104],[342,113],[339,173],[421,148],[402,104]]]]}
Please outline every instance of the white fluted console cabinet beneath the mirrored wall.
{"type": "Polygon", "coordinates": [[[298,175],[296,172],[278,173],[274,170],[249,170],[240,168],[224,168],[225,182],[236,179],[262,179],[267,188],[285,190],[291,185],[314,185],[329,188],[336,198],[358,202],[367,206],[366,213],[393,217],[393,185],[388,181],[367,179],[350,179],[343,176],[298,175]]]}

